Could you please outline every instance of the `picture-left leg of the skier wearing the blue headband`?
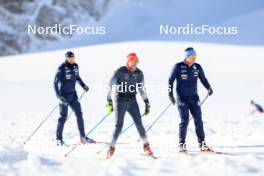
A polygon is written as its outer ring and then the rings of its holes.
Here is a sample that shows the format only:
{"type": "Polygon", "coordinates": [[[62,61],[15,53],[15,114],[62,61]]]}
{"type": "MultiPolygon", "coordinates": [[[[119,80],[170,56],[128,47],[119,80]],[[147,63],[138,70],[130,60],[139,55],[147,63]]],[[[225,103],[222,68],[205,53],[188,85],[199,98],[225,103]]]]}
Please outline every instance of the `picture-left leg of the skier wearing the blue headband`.
{"type": "Polygon", "coordinates": [[[184,144],[186,135],[187,135],[187,128],[189,124],[189,105],[187,102],[182,102],[178,99],[178,110],[181,118],[181,122],[179,124],[179,143],[184,144]]]}

